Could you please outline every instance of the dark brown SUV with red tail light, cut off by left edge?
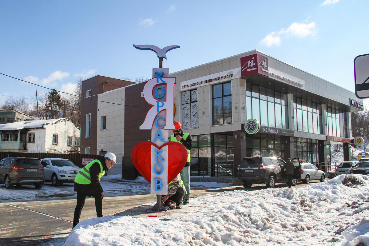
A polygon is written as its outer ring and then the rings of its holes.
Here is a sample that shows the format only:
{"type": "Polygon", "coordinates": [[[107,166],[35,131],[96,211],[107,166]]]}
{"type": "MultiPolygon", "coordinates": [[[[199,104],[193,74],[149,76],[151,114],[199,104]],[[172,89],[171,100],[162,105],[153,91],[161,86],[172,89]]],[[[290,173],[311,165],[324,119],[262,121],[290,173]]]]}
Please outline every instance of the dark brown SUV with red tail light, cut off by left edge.
{"type": "Polygon", "coordinates": [[[6,157],[0,161],[0,182],[7,189],[13,185],[33,184],[41,189],[45,182],[44,166],[36,158],[6,157]]]}

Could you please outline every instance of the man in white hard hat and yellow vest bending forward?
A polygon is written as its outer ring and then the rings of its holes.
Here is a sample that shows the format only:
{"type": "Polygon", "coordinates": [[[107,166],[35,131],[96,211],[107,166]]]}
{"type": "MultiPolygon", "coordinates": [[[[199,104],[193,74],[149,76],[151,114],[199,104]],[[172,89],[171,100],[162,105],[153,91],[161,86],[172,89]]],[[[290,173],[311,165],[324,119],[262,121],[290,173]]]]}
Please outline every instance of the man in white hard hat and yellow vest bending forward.
{"type": "Polygon", "coordinates": [[[86,196],[95,198],[96,215],[97,217],[103,216],[104,190],[100,185],[100,179],[114,163],[116,163],[115,155],[106,153],[105,156],[97,157],[77,173],[74,180],[74,190],[77,191],[77,205],[74,210],[73,227],[79,223],[86,196]]]}

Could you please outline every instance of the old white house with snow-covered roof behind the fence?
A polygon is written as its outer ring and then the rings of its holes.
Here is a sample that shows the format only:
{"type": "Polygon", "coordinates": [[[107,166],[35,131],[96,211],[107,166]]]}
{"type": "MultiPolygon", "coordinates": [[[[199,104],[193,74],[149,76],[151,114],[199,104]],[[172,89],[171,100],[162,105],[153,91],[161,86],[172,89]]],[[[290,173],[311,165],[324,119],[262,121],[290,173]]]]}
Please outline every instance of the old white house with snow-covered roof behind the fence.
{"type": "Polygon", "coordinates": [[[1,124],[0,133],[0,151],[76,153],[80,150],[80,129],[69,119],[1,124]]]}

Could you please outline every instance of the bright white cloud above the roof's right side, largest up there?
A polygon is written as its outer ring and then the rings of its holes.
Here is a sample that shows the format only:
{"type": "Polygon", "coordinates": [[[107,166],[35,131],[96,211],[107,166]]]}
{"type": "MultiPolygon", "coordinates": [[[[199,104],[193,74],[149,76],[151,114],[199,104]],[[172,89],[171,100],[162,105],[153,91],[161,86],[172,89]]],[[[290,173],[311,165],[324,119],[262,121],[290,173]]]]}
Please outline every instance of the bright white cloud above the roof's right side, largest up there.
{"type": "Polygon", "coordinates": [[[297,23],[293,22],[287,29],[282,28],[278,32],[270,32],[259,43],[268,47],[281,44],[281,39],[284,37],[296,36],[299,38],[305,38],[307,36],[314,36],[316,34],[315,22],[297,23]]]}

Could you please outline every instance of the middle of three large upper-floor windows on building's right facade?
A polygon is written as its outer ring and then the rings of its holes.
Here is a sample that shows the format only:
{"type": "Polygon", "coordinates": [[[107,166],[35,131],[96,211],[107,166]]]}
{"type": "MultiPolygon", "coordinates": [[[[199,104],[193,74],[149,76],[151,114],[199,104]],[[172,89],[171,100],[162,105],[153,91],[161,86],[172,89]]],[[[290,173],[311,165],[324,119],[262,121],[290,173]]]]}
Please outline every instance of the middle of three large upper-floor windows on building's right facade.
{"type": "Polygon", "coordinates": [[[293,98],[294,130],[321,134],[320,105],[301,98],[293,98]]]}

